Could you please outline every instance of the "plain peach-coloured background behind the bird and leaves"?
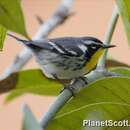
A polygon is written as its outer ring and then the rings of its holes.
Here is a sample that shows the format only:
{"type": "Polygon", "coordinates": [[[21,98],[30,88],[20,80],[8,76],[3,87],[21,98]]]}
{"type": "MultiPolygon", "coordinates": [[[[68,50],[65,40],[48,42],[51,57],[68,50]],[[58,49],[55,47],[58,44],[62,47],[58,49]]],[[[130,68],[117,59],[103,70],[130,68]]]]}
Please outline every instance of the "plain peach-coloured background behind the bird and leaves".
{"type": "MultiPolygon", "coordinates": [[[[36,15],[46,21],[59,3],[60,0],[22,0],[26,27],[30,36],[33,37],[39,29],[36,15]]],[[[75,0],[72,7],[72,12],[75,12],[75,15],[57,27],[49,37],[94,36],[103,40],[114,5],[114,0],[75,0]]],[[[130,65],[130,49],[121,18],[117,23],[112,44],[117,45],[117,47],[109,51],[110,56],[130,65]]],[[[6,37],[3,52],[0,52],[0,74],[12,63],[15,55],[22,49],[22,45],[14,39],[6,37]]],[[[38,68],[34,58],[23,69],[29,68],[38,68]]],[[[6,95],[0,95],[0,130],[21,129],[21,110],[24,103],[27,103],[37,119],[40,119],[41,115],[47,111],[49,104],[55,99],[54,97],[26,94],[5,105],[6,95]]]]}

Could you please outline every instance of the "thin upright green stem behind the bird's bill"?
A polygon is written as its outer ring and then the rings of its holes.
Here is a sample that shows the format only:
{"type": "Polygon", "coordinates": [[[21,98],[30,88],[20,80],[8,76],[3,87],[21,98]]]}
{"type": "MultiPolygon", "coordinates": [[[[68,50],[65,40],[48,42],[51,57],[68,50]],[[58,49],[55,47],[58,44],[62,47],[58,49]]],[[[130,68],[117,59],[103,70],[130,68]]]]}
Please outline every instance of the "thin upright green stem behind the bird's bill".
{"type": "MultiPolygon", "coordinates": [[[[118,21],[118,17],[119,17],[118,9],[117,9],[117,6],[115,6],[109,25],[108,25],[108,29],[105,33],[104,44],[110,44],[115,27],[116,27],[116,23],[118,21]]],[[[105,61],[107,58],[107,52],[108,52],[108,49],[104,52],[103,56],[100,58],[97,65],[97,69],[105,69],[105,61]]]]}

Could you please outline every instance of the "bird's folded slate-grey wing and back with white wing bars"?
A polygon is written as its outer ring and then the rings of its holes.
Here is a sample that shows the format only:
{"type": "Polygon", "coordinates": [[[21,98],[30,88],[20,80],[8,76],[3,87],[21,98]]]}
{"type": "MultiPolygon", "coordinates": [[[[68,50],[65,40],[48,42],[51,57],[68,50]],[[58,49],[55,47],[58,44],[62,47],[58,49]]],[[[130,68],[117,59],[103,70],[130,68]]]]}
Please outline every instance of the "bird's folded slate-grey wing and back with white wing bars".
{"type": "MultiPolygon", "coordinates": [[[[28,46],[33,48],[39,47],[41,49],[50,50],[54,53],[60,53],[67,56],[76,56],[80,57],[84,54],[83,43],[79,38],[73,37],[64,37],[64,38],[55,38],[49,40],[36,40],[28,41],[25,43],[28,46]]],[[[85,46],[84,46],[85,47],[85,46]]]]}

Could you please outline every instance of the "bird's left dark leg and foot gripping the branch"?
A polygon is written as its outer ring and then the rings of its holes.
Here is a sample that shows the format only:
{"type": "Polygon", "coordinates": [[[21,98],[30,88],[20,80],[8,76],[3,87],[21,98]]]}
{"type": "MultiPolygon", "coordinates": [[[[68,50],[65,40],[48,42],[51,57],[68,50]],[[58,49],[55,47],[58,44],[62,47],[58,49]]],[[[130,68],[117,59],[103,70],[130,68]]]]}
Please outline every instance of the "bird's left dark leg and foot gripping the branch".
{"type": "Polygon", "coordinates": [[[60,80],[60,79],[57,77],[56,74],[53,74],[53,77],[54,77],[59,83],[61,83],[61,84],[63,85],[63,89],[60,91],[60,93],[62,93],[65,89],[68,89],[68,90],[71,91],[72,95],[75,96],[75,95],[74,95],[74,92],[73,92],[73,89],[74,89],[74,88],[70,87],[70,85],[66,85],[62,80],[60,80]]]}

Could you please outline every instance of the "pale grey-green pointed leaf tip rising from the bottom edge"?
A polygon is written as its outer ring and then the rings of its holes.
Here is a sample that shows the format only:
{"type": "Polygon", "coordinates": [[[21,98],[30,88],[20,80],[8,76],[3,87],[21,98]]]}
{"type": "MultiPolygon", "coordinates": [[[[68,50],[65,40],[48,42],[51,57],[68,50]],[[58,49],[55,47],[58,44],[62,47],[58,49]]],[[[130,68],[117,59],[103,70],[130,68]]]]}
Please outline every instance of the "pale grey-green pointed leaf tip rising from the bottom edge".
{"type": "Polygon", "coordinates": [[[27,105],[24,106],[23,113],[22,130],[43,130],[27,105]]]}

